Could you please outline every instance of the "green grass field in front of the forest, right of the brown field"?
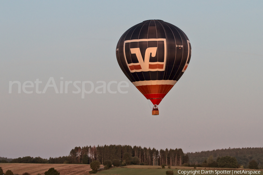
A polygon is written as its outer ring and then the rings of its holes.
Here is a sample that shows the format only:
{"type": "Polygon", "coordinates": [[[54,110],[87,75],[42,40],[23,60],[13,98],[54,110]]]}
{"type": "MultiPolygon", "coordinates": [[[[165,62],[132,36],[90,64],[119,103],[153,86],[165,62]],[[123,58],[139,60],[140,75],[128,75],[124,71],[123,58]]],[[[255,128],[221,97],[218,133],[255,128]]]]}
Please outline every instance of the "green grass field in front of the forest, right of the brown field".
{"type": "MultiPolygon", "coordinates": [[[[112,169],[108,169],[108,170],[103,170],[98,172],[97,174],[100,175],[165,175],[165,172],[168,170],[173,170],[174,171],[174,175],[183,175],[183,174],[179,174],[178,170],[181,171],[191,171],[191,169],[145,169],[145,168],[112,168],[112,169]]],[[[192,169],[194,171],[194,169],[192,169]]],[[[209,170],[204,169],[207,173],[203,173],[201,174],[201,170],[197,169],[197,171],[199,170],[199,173],[196,173],[195,175],[232,175],[232,170],[227,169],[227,171],[229,171],[230,173],[216,173],[216,169],[213,169],[209,172],[209,170]],[[211,173],[213,172],[213,173],[211,173]]],[[[226,171],[226,169],[221,169],[221,170],[217,170],[217,171],[226,171]]],[[[235,169],[233,171],[240,171],[240,169],[235,169]]],[[[246,170],[245,170],[246,171],[246,170]]],[[[247,170],[248,171],[248,170],[247,170]]],[[[249,170],[249,171],[255,171],[255,170],[249,170]]],[[[259,170],[257,170],[259,171],[259,170]]],[[[203,171],[204,172],[204,171],[203,171]]],[[[233,173],[234,175],[235,173],[233,173]]],[[[187,174],[186,174],[187,175],[187,174]]],[[[193,173],[189,173],[188,175],[193,175],[193,173]]],[[[235,174],[235,175],[263,175],[263,171],[260,171],[260,174],[235,174]]]]}

